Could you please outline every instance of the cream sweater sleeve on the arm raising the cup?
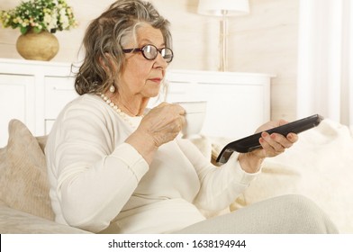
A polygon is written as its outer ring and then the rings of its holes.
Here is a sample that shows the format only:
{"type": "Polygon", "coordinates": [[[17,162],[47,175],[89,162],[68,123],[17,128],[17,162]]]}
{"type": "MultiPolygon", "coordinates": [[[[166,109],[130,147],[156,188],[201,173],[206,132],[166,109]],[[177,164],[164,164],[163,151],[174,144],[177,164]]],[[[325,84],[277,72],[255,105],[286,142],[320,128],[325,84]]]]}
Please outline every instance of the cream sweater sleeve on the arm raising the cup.
{"type": "Polygon", "coordinates": [[[98,232],[122,210],[149,166],[98,108],[70,106],[58,118],[46,151],[60,211],[68,225],[98,232]]]}

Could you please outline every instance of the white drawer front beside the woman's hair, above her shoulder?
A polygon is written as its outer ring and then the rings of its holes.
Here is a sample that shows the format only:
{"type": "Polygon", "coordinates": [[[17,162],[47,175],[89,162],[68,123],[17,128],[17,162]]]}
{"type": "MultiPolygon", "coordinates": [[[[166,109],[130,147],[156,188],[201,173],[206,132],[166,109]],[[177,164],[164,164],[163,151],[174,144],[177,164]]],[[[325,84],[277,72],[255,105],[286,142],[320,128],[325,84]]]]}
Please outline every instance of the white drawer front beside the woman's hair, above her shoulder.
{"type": "Polygon", "coordinates": [[[75,91],[74,82],[74,77],[45,77],[44,83],[46,119],[57,118],[63,107],[78,96],[75,91]]]}

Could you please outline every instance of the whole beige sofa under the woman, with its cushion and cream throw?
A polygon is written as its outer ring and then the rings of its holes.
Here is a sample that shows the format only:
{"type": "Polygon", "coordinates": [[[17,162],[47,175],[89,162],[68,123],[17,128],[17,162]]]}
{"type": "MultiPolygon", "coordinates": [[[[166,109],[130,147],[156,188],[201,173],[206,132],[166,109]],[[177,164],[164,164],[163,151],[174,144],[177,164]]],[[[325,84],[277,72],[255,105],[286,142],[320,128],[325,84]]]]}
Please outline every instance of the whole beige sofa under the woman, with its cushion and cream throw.
{"type": "MultiPolygon", "coordinates": [[[[10,121],[8,130],[7,146],[0,148],[0,233],[88,233],[54,221],[43,152],[47,137],[33,136],[18,120],[10,121]]],[[[230,140],[200,136],[193,141],[214,160],[230,140]]],[[[267,158],[258,178],[224,211],[299,193],[326,211],[341,233],[353,233],[351,153],[351,130],[324,120],[315,129],[301,133],[293,148],[267,158]]],[[[222,212],[205,214],[210,217],[222,212]]]]}

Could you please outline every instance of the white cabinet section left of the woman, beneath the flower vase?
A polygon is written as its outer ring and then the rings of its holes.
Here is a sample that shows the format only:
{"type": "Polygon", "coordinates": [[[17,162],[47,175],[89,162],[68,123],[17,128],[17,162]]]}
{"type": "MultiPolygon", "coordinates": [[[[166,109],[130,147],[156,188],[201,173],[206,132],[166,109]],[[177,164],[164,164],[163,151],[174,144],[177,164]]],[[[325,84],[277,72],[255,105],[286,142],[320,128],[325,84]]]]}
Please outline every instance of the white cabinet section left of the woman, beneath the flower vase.
{"type": "Polygon", "coordinates": [[[35,136],[49,132],[64,103],[77,96],[70,72],[69,63],[0,58],[0,147],[7,143],[8,122],[14,118],[35,136]]]}

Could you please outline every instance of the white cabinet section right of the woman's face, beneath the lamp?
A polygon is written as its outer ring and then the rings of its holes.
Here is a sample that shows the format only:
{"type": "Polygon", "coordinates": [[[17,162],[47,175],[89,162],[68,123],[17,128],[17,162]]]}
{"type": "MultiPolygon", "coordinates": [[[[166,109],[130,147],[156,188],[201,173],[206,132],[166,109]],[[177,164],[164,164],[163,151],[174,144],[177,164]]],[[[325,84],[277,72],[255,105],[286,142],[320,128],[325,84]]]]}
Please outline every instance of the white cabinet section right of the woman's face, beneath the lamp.
{"type": "Polygon", "coordinates": [[[255,73],[170,71],[167,101],[207,101],[203,134],[239,139],[270,120],[271,76],[255,73]]]}

